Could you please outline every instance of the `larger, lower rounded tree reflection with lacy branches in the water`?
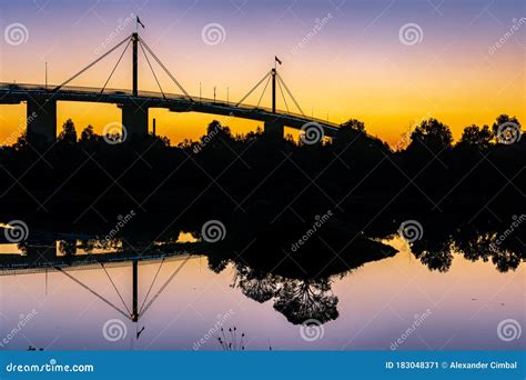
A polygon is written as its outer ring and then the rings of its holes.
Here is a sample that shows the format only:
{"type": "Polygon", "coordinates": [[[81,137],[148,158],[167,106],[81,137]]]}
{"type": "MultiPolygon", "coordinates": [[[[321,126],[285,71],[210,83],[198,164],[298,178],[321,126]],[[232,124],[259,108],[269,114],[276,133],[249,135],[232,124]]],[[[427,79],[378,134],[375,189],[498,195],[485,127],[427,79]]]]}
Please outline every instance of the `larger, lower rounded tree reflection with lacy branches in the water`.
{"type": "Polygon", "coordinates": [[[285,279],[277,291],[274,309],[294,324],[308,319],[325,323],[338,317],[336,304],[337,297],[332,293],[328,279],[285,279]]]}

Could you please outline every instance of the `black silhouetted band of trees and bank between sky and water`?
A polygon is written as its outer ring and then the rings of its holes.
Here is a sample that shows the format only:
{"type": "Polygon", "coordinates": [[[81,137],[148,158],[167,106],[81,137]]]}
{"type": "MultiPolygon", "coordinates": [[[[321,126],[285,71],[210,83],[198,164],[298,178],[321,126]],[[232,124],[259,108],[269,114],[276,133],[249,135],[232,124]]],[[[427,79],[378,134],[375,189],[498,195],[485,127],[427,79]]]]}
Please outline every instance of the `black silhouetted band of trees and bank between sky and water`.
{"type": "Polygon", "coordinates": [[[505,114],[492,127],[467,127],[456,144],[447,126],[424,120],[406,137],[406,147],[395,150],[366,134],[357,120],[344,123],[332,142],[315,144],[291,137],[277,141],[261,130],[233,136],[218,121],[200,141],[176,147],[152,134],[107,142],[112,139],[91,126],[79,136],[68,120],[50,149],[29,144],[26,136],[3,147],[2,210],[75,218],[85,209],[93,214],[131,208],[171,214],[203,208],[230,213],[292,208],[300,214],[305,208],[307,214],[334,209],[350,218],[386,208],[489,207],[513,213],[526,188],[526,141],[519,121],[505,114]],[[513,143],[497,136],[506,124],[518,129],[513,143]]]}

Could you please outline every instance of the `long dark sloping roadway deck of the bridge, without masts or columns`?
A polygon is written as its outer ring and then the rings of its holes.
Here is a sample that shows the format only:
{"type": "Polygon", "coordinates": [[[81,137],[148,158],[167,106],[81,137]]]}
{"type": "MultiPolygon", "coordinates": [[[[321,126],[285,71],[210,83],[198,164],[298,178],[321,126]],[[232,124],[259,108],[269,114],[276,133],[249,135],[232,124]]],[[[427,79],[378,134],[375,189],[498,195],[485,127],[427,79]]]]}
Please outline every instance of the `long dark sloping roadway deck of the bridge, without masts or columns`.
{"type": "MultiPolygon", "coordinates": [[[[0,91],[10,91],[10,92],[18,92],[18,91],[38,91],[38,92],[50,92],[54,89],[57,84],[48,84],[48,87],[43,84],[32,84],[32,83],[8,83],[8,82],[0,82],[0,91]]],[[[88,94],[93,96],[94,98],[100,97],[102,93],[107,96],[115,96],[115,97],[132,97],[131,90],[125,89],[111,89],[107,88],[101,93],[102,88],[97,87],[75,87],[75,86],[63,86],[60,88],[61,93],[79,93],[79,94],[88,94]]],[[[152,98],[159,100],[178,100],[178,101],[185,101],[188,102],[188,97],[178,94],[178,93],[164,93],[164,97],[161,92],[154,91],[139,91],[139,97],[141,98],[152,98]]],[[[250,103],[242,103],[236,106],[235,102],[226,102],[224,100],[216,100],[211,98],[203,98],[203,97],[192,97],[195,102],[211,104],[215,107],[225,107],[225,108],[240,108],[247,111],[263,111],[272,114],[272,109],[267,107],[257,107],[250,103]]],[[[302,121],[314,121],[324,126],[330,127],[340,127],[340,124],[331,122],[328,120],[323,120],[318,118],[307,117],[301,113],[294,113],[290,111],[279,110],[276,113],[282,116],[287,116],[291,118],[295,118],[302,121]]]]}

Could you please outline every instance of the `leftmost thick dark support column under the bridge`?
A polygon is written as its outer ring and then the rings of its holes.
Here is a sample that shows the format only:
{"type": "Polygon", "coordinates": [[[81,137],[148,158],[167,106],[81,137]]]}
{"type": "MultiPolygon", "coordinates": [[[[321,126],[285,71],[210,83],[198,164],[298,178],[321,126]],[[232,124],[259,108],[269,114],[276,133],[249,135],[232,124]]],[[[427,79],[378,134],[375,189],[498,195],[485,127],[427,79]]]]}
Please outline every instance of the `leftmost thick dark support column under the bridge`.
{"type": "Polygon", "coordinates": [[[29,99],[26,108],[28,141],[50,144],[57,140],[57,101],[29,99]]]}

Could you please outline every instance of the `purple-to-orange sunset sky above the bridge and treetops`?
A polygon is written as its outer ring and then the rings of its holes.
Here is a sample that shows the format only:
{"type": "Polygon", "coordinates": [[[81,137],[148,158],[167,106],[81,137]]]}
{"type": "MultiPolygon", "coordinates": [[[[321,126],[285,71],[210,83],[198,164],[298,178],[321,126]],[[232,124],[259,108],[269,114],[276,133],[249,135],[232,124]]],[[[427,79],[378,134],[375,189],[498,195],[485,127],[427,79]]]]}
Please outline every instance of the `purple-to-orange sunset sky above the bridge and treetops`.
{"type": "MultiPolygon", "coordinates": [[[[213,97],[215,86],[219,99],[226,98],[229,88],[230,100],[240,100],[276,54],[283,60],[280,73],[305,113],[336,122],[363,120],[372,134],[392,144],[411,124],[429,117],[447,123],[455,138],[464,127],[492,123],[499,113],[526,122],[526,21],[494,53],[488,51],[514,19],[526,17],[523,0],[1,0],[0,81],[43,83],[44,62],[50,83],[65,80],[95,59],[97,51],[108,50],[101,44],[131,13],[146,27],[141,37],[194,96],[201,82],[203,97],[213,97]],[[328,13],[328,22],[297,48],[316,19],[328,13]],[[28,29],[26,43],[7,43],[4,30],[14,22],[28,29]],[[224,42],[203,42],[209,23],[224,28],[224,42]],[[401,42],[398,31],[407,23],[421,27],[419,43],[401,42]]],[[[110,46],[132,31],[130,23],[110,46]]],[[[102,87],[118,58],[114,52],[71,84],[102,87]]],[[[156,90],[142,56],[140,60],[140,89],[156,90]]],[[[109,87],[131,87],[130,61],[131,53],[109,87]]],[[[159,68],[156,72],[166,92],[178,92],[159,68]]],[[[259,94],[246,102],[256,103],[259,94]]],[[[263,104],[270,104],[269,91],[263,104]]],[[[277,106],[284,109],[281,99],[277,106]]],[[[120,121],[120,110],[111,104],[61,102],[58,112],[59,127],[72,118],[79,130],[91,123],[100,132],[120,121]]],[[[172,142],[196,139],[211,120],[224,120],[165,110],[151,110],[153,117],[158,132],[172,142]]],[[[0,144],[19,134],[24,118],[24,104],[0,106],[0,144]]],[[[234,132],[257,126],[224,121],[234,132]]]]}

